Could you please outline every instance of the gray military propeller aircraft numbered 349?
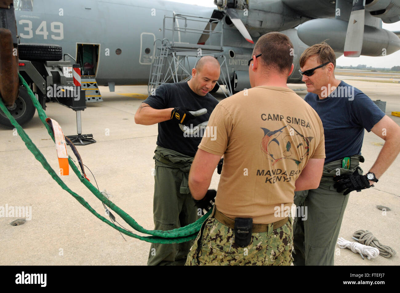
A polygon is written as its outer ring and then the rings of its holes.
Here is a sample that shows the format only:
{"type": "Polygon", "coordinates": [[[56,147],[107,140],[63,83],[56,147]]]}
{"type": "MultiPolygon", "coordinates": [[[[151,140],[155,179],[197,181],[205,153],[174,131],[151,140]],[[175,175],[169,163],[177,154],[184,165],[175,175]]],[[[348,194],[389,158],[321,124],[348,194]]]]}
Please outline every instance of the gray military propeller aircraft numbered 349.
{"type": "Polygon", "coordinates": [[[382,21],[400,20],[400,0],[214,0],[214,4],[215,8],[161,0],[15,0],[14,8],[21,43],[62,46],[64,56],[81,64],[83,77],[108,85],[111,91],[114,85],[145,84],[150,90],[152,75],[158,76],[158,84],[177,81],[160,78],[154,69],[155,61],[167,54],[162,50],[167,43],[174,49],[168,54],[183,64],[181,77],[194,66],[197,49],[219,52],[225,60],[225,78],[234,90],[250,87],[247,63],[254,42],[271,31],[288,35],[294,45],[295,70],[289,83],[301,82],[302,52],[324,40],[337,56],[382,56],[400,49],[398,36],[382,29],[382,21]]]}

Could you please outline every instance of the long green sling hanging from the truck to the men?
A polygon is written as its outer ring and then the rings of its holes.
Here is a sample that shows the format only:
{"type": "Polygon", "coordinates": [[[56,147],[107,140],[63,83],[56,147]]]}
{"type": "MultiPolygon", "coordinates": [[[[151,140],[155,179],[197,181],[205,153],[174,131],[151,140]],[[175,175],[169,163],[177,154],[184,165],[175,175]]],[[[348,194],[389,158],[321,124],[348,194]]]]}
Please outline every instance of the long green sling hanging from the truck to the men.
{"type": "MultiPolygon", "coordinates": [[[[40,106],[38,100],[36,100],[36,97],[34,96],[32,90],[29,88],[28,84],[22,78],[20,74],[18,74],[22,85],[24,88],[28,91],[28,94],[35,106],[35,108],[38,110],[38,115],[44,126],[46,126],[46,129],[48,131],[48,134],[52,138],[54,142],[54,135],[49,127],[49,125],[46,123],[46,114],[44,110],[42,109],[42,106],[40,106]]],[[[22,127],[16,122],[14,117],[10,114],[8,111],[7,107],[4,106],[2,99],[0,99],[0,109],[4,112],[4,114],[7,116],[7,118],[10,120],[11,124],[14,125],[16,128],[19,136],[21,139],[24,141],[26,147],[33,153],[35,158],[40,161],[44,169],[48,171],[48,173],[52,176],[52,178],[62,187],[62,189],[68,191],[77,201],[79,201],[80,204],[82,204],[86,209],[88,209],[93,215],[98,217],[100,220],[102,220],[104,223],[107,223],[114,229],[117,229],[118,231],[124,233],[125,235],[128,235],[130,237],[134,237],[140,240],[144,240],[147,242],[152,242],[152,243],[182,243],[189,241],[191,239],[196,238],[198,231],[200,230],[200,227],[202,223],[207,219],[207,217],[210,215],[212,210],[208,211],[204,216],[202,216],[200,219],[198,219],[196,222],[187,225],[185,227],[181,227],[178,229],[173,229],[169,231],[162,231],[162,230],[147,230],[144,229],[142,226],[140,226],[130,215],[128,215],[126,212],[124,212],[122,209],[120,209],[117,205],[112,203],[109,199],[107,199],[90,181],[88,181],[78,170],[74,162],[72,161],[72,158],[68,155],[68,163],[71,166],[72,170],[76,174],[76,176],[80,179],[80,181],[98,198],[100,201],[102,201],[105,205],[110,207],[111,210],[115,211],[117,215],[119,215],[128,225],[130,225],[133,229],[136,231],[139,231],[141,233],[149,234],[152,236],[140,236],[136,235],[126,229],[123,229],[121,227],[116,226],[114,223],[110,222],[108,219],[104,218],[102,215],[97,213],[90,205],[88,202],[86,202],[83,197],[72,191],[65,183],[64,181],[61,180],[61,178],[57,175],[57,173],[52,169],[52,167],[49,165],[47,162],[46,158],[44,155],[39,151],[39,149],[36,147],[36,145],[30,140],[29,136],[26,134],[26,132],[22,129],[22,127]]]]}

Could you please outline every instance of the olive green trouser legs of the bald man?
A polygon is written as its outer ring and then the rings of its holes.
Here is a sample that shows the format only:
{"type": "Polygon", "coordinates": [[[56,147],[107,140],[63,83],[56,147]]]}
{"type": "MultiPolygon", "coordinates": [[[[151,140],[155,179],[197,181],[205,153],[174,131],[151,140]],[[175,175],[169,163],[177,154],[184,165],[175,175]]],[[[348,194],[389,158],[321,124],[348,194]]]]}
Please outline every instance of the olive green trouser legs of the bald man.
{"type": "MultiPolygon", "coordinates": [[[[183,172],[155,166],[154,229],[172,230],[195,222],[199,217],[190,193],[180,193],[183,172]]],[[[184,243],[152,243],[147,265],[184,265],[193,240],[184,243]]]]}

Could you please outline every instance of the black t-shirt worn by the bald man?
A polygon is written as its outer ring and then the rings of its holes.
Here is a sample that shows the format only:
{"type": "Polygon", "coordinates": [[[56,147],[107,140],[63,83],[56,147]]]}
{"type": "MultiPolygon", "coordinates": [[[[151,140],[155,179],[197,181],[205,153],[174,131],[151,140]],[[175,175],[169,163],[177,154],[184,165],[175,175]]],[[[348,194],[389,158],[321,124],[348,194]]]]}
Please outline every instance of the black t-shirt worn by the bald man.
{"type": "MultiPolygon", "coordinates": [[[[187,82],[178,82],[175,84],[162,84],[156,89],[155,95],[148,96],[143,101],[154,109],[166,109],[175,107],[188,107],[194,110],[206,108],[207,113],[197,116],[193,120],[188,120],[186,126],[192,127],[208,121],[212,110],[218,104],[218,100],[210,93],[202,97],[194,93],[187,82]]],[[[194,157],[197,151],[197,146],[200,144],[202,137],[185,137],[184,132],[180,129],[179,124],[167,120],[158,123],[157,145],[172,149],[194,157]]]]}

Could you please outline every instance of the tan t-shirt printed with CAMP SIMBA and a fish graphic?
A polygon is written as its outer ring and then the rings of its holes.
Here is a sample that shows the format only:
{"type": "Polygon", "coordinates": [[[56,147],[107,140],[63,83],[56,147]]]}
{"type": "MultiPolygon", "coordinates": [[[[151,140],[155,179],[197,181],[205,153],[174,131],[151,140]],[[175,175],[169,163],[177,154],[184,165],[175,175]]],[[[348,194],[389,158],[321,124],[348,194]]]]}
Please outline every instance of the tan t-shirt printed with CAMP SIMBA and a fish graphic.
{"type": "Polygon", "coordinates": [[[324,128],[292,90],[258,86],[216,106],[199,148],[224,155],[218,210],[232,219],[273,223],[287,216],[308,159],[325,157],[324,128]]]}

